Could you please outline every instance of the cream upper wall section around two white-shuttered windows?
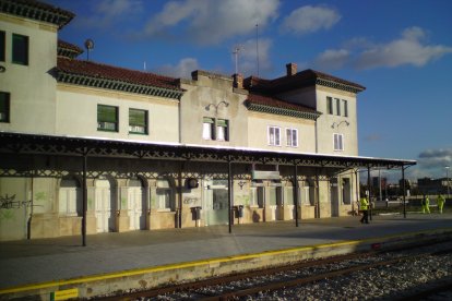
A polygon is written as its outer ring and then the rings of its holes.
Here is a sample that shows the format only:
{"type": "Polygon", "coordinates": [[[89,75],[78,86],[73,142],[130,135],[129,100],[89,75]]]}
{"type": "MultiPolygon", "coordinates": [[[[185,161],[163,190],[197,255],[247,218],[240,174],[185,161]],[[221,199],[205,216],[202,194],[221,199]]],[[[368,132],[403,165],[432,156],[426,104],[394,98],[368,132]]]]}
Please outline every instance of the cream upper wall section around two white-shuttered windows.
{"type": "Polygon", "coordinates": [[[316,122],[309,119],[250,112],[248,118],[248,133],[250,133],[248,145],[274,152],[314,153],[314,124],[316,122]],[[267,127],[281,128],[281,146],[269,145],[267,127]],[[298,147],[286,145],[286,129],[288,128],[298,130],[298,147]]]}

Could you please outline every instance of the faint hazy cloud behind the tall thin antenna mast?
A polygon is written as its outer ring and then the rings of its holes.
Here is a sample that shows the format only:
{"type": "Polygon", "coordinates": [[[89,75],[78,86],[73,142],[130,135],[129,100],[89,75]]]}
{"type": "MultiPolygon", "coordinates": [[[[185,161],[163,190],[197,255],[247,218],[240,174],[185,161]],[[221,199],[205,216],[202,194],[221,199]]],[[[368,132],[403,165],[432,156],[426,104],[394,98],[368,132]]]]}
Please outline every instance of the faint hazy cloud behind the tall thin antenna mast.
{"type": "MultiPolygon", "coordinates": [[[[270,49],[272,48],[272,39],[261,38],[259,39],[259,73],[265,72],[272,69],[270,49]]],[[[255,39],[249,39],[239,46],[238,55],[238,72],[243,76],[258,75],[258,49],[255,39]]],[[[233,55],[233,60],[235,56],[233,55]]],[[[234,62],[235,63],[235,62],[234,62]]]]}

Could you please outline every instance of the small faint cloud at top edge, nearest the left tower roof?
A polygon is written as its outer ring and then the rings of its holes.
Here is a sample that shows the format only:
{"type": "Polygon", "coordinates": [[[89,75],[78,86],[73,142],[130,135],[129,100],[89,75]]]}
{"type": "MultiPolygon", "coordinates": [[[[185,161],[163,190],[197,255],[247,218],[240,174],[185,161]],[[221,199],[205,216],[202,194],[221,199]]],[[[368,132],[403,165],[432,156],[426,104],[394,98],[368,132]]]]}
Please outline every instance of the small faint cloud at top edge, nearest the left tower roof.
{"type": "Polygon", "coordinates": [[[75,22],[84,27],[102,29],[117,25],[121,21],[128,21],[131,15],[143,10],[141,0],[100,0],[90,4],[92,4],[93,14],[88,17],[76,17],[75,22]]]}

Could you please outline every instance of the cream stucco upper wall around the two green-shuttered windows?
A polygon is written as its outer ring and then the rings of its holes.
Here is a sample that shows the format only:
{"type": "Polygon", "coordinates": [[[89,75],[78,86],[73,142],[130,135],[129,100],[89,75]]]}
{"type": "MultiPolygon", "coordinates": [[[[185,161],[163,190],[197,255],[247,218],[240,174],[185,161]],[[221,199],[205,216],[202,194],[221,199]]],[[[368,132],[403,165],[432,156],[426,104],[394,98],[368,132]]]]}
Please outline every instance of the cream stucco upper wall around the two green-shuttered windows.
{"type": "Polygon", "coordinates": [[[177,143],[179,101],[58,84],[57,134],[177,143]],[[97,105],[119,107],[119,132],[97,131],[97,105]],[[148,134],[129,134],[129,109],[147,110],[148,134]]]}

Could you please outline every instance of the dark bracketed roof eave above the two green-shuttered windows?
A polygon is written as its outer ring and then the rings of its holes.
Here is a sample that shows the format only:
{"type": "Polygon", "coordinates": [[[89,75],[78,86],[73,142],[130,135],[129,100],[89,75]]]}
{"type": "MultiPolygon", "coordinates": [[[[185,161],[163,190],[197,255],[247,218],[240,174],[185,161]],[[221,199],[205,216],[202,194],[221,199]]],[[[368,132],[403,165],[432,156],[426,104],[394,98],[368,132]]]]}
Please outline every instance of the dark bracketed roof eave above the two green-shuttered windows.
{"type": "Polygon", "coordinates": [[[151,85],[132,84],[126,81],[73,74],[61,70],[58,70],[57,81],[59,83],[121,91],[142,95],[159,96],[178,100],[185,92],[182,89],[170,89],[151,85]]]}

